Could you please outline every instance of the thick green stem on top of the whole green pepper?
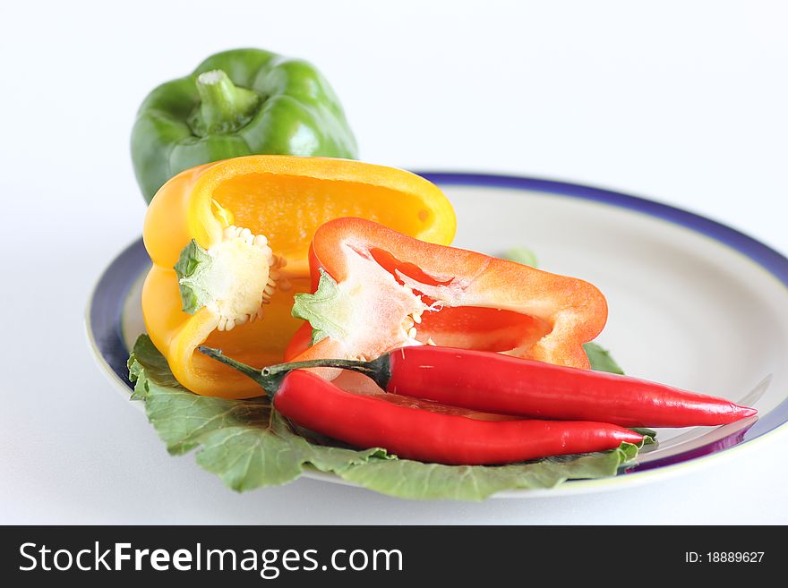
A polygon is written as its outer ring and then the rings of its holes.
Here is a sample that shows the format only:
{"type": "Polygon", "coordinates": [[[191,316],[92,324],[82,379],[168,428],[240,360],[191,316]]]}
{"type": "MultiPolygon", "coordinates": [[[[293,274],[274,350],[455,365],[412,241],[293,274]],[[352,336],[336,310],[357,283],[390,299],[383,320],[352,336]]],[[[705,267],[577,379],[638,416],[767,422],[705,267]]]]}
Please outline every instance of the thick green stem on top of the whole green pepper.
{"type": "Polygon", "coordinates": [[[206,134],[236,132],[252,118],[260,102],[251,89],[239,88],[227,73],[211,70],[197,76],[201,130],[206,134]]]}

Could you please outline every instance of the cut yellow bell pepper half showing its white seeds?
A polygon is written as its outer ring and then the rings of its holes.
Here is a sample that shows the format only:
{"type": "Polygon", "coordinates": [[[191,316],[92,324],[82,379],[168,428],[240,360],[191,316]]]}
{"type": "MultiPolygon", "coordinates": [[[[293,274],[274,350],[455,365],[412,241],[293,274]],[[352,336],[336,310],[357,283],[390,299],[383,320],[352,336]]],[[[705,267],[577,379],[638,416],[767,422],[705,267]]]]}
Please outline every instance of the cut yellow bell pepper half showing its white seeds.
{"type": "Polygon", "coordinates": [[[257,367],[282,361],[300,325],[290,315],[293,294],[311,291],[309,243],[338,217],[368,218],[443,245],[456,230],[454,210],[433,183],[346,159],[227,159],[161,187],[143,230],[153,267],[142,314],[181,384],[207,396],[262,394],[195,349],[219,347],[257,367]]]}

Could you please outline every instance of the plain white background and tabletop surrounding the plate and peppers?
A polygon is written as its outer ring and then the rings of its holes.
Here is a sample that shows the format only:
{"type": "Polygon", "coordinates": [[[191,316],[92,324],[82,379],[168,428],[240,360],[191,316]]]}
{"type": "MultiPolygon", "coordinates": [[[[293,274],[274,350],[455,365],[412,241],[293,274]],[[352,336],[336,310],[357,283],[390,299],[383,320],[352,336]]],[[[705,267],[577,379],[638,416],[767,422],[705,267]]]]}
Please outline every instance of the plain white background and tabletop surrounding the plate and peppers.
{"type": "Polygon", "coordinates": [[[788,251],[779,2],[150,2],[0,7],[0,523],[788,523],[783,435],[628,490],[418,503],[301,480],[237,495],[169,457],[82,316],[141,232],[128,140],[161,81],[231,47],[330,79],[362,158],[543,175],[788,251]]]}

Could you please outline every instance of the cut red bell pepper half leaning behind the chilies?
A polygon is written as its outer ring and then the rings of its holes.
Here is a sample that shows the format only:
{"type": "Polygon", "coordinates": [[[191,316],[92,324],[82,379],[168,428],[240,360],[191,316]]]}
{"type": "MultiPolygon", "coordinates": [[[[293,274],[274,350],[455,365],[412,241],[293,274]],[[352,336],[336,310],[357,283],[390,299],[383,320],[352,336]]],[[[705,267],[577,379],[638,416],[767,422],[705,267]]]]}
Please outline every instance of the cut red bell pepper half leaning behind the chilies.
{"type": "Polygon", "coordinates": [[[424,243],[362,218],[321,226],[309,257],[313,294],[296,295],[293,307],[309,323],[287,360],[441,345],[587,369],[582,345],[607,320],[604,295],[583,280],[424,243]]]}

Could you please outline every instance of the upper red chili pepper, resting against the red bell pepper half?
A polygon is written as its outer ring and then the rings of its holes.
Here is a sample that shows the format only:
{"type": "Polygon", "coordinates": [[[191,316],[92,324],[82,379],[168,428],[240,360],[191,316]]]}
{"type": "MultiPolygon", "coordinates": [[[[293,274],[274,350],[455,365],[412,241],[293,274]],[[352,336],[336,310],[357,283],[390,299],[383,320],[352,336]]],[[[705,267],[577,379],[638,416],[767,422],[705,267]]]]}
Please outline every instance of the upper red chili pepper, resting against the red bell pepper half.
{"type": "Polygon", "coordinates": [[[644,379],[451,347],[401,347],[371,362],[312,360],[295,367],[360,371],[387,392],[479,411],[622,427],[721,425],[758,413],[716,396],[644,379]]]}

